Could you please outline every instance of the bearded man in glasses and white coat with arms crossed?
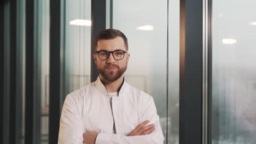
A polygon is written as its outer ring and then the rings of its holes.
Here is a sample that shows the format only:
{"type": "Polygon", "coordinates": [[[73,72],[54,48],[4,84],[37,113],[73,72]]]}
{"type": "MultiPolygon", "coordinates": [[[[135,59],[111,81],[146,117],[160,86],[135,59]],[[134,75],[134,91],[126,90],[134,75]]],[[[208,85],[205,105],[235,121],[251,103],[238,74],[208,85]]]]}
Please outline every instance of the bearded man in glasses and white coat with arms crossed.
{"type": "Polygon", "coordinates": [[[163,143],[153,98],[125,82],[130,58],[125,35],[106,29],[95,51],[98,79],[67,95],[59,143],[163,143]]]}

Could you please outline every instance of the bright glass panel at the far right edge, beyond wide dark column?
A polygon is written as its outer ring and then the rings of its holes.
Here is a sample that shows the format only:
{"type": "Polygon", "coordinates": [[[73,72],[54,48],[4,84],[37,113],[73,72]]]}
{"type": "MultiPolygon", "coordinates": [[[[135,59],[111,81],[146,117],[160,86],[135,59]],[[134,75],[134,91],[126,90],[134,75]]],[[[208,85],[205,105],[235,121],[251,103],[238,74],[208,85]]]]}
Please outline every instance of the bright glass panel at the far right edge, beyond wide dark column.
{"type": "Polygon", "coordinates": [[[256,143],[256,1],[213,1],[212,143],[256,143]]]}

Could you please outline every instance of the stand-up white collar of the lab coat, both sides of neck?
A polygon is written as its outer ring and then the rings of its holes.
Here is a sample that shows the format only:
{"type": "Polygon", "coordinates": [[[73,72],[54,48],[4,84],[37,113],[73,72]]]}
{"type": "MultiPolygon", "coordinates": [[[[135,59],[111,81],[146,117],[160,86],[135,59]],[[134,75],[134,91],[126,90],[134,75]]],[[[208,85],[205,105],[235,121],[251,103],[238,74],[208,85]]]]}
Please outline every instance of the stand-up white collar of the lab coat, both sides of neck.
{"type": "MultiPolygon", "coordinates": [[[[105,86],[103,85],[103,83],[100,80],[100,77],[98,76],[97,80],[95,81],[95,85],[98,89],[98,91],[100,91],[103,95],[108,95],[108,91],[105,88],[105,86]]],[[[127,87],[127,83],[125,82],[125,79],[123,80],[123,84],[120,88],[120,91],[118,93],[118,98],[122,97],[122,95],[125,93],[125,89],[127,87]]]]}

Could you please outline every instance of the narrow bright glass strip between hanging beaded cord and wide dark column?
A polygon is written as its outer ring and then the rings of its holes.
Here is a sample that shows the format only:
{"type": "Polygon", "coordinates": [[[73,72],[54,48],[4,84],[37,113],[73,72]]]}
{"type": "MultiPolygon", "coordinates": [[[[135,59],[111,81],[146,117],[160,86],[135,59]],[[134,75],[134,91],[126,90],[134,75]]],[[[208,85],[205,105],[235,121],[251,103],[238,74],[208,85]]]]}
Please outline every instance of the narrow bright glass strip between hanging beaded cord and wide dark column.
{"type": "MultiPolygon", "coordinates": [[[[179,1],[169,2],[168,143],[179,143],[179,1]]],[[[160,57],[160,56],[159,56],[160,57]]],[[[162,100],[164,101],[164,99],[162,100]]]]}

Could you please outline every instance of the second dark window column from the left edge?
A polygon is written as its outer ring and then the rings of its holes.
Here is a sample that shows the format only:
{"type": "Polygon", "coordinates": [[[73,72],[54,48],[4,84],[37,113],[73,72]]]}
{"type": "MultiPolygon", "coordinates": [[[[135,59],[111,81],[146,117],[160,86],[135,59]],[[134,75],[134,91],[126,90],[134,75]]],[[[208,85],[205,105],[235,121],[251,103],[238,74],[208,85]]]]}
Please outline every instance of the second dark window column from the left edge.
{"type": "Polygon", "coordinates": [[[25,143],[35,143],[34,123],[34,0],[26,0],[25,143]]]}

